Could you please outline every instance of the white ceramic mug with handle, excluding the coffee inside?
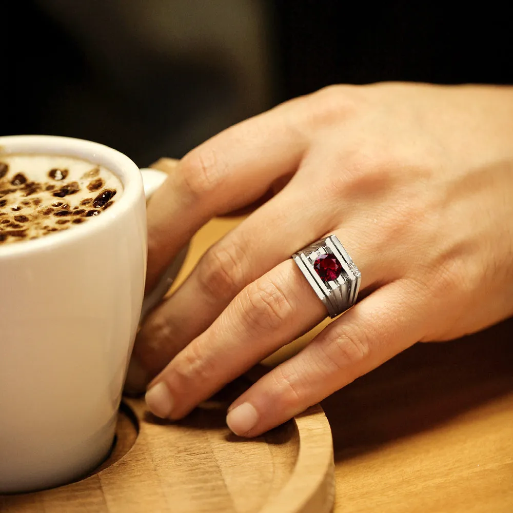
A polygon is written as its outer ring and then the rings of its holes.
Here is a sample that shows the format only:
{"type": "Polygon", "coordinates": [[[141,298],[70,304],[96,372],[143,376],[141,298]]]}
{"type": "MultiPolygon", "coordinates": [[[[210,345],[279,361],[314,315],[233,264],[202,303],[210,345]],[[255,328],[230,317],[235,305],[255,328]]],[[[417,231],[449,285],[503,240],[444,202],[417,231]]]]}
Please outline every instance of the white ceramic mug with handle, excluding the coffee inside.
{"type": "Polygon", "coordinates": [[[123,183],[120,198],[94,220],[0,246],[0,492],[12,492],[80,478],[111,448],[143,303],[144,189],[151,193],[165,175],[147,170],[143,188],[126,155],[68,137],[0,137],[0,158],[5,153],[79,157],[123,183]]]}

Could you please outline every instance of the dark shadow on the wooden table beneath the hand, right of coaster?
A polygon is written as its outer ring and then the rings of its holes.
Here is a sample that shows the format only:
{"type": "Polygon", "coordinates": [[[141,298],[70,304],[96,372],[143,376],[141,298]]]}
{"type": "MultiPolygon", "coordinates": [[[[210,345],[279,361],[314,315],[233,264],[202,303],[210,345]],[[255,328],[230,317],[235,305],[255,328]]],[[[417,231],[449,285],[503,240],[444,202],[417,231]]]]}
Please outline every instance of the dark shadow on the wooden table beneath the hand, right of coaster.
{"type": "Polygon", "coordinates": [[[513,390],[513,319],[419,343],[322,402],[342,461],[443,424],[513,390]]]}

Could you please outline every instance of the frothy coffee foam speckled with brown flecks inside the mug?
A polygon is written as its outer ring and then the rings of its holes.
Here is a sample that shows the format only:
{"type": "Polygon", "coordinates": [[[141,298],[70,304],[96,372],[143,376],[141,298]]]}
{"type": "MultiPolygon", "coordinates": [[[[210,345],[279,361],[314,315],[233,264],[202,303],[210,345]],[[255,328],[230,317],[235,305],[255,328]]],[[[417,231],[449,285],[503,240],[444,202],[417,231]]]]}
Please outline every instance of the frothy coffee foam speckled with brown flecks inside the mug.
{"type": "Polygon", "coordinates": [[[115,174],[86,160],[0,154],[0,245],[80,226],[122,193],[115,174]]]}

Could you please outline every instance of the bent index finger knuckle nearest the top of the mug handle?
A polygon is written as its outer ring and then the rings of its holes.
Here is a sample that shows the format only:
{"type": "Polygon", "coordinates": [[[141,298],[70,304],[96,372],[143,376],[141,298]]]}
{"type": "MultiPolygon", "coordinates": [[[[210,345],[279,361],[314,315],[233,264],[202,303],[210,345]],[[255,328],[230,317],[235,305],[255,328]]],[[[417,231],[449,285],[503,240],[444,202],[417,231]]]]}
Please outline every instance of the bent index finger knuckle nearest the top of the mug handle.
{"type": "Polygon", "coordinates": [[[182,159],[180,176],[185,191],[201,199],[219,187],[223,166],[214,150],[199,147],[182,159]]]}

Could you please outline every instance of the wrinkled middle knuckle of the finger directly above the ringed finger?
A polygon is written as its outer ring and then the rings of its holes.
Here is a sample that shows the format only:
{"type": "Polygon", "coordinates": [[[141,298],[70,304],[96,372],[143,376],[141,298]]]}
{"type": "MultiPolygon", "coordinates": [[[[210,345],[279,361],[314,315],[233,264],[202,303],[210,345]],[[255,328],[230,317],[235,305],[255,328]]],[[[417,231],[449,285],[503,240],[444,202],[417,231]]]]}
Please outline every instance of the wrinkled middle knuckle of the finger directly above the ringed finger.
{"type": "Polygon", "coordinates": [[[244,252],[239,246],[216,245],[200,261],[198,276],[203,291],[215,300],[231,299],[244,283],[244,252]]]}

